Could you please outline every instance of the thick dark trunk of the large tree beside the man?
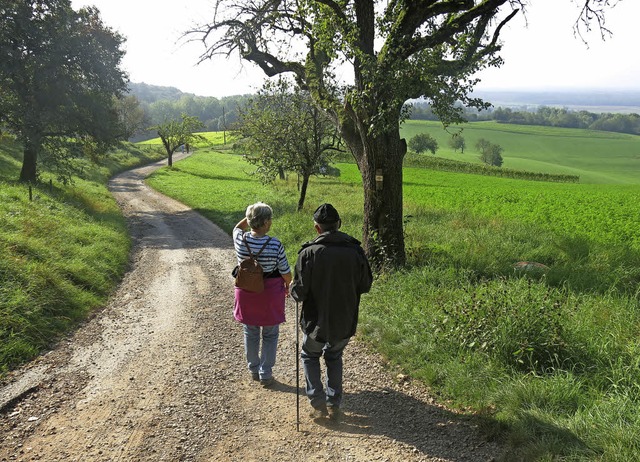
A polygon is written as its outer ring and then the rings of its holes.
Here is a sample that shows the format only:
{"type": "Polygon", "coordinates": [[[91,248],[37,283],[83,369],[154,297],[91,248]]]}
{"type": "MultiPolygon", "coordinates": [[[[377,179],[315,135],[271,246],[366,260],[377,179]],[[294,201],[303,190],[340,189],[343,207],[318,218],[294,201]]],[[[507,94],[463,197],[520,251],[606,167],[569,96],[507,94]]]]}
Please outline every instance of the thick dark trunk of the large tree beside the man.
{"type": "MultiPolygon", "coordinates": [[[[362,139],[362,138],[361,138],[362,139]]],[[[364,187],[363,245],[372,263],[405,264],[402,161],[407,151],[400,129],[390,129],[351,146],[364,187]]]]}

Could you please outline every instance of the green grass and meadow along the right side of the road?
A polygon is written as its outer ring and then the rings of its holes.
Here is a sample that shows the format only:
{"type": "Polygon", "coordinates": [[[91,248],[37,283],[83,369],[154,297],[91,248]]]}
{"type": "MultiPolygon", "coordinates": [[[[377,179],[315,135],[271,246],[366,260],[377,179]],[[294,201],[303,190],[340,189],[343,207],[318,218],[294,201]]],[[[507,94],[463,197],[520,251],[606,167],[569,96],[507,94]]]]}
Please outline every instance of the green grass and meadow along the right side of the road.
{"type": "MultiPolygon", "coordinates": [[[[339,167],[339,179],[312,181],[301,213],[295,178],[262,185],[233,154],[202,150],[149,182],[227,231],[247,204],[269,203],[293,262],[321,202],[361,234],[357,168],[339,167]]],[[[409,265],[379,275],[363,298],[360,338],[443,401],[484,416],[509,442],[505,460],[636,460],[638,187],[425,169],[405,178],[409,265]],[[523,273],[523,260],[549,269],[523,273]]]]}

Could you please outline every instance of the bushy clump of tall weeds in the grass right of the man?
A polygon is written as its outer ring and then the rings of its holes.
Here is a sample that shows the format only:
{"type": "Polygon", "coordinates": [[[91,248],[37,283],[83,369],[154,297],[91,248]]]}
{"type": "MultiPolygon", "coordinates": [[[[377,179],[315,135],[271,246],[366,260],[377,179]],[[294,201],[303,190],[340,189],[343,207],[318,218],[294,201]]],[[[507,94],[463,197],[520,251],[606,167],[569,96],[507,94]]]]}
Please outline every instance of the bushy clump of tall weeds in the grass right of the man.
{"type": "Polygon", "coordinates": [[[524,278],[496,279],[459,295],[442,307],[439,338],[451,349],[479,351],[523,372],[571,367],[558,291],[524,278]]]}

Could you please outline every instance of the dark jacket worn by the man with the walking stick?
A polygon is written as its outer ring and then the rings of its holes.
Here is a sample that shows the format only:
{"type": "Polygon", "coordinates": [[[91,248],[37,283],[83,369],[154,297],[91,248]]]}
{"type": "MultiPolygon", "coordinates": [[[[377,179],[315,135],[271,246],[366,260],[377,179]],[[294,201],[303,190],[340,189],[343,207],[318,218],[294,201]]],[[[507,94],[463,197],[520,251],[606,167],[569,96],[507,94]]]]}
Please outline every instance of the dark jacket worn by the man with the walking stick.
{"type": "Polygon", "coordinates": [[[360,295],[372,281],[360,242],[348,234],[330,231],[303,244],[291,288],[293,298],[302,302],[303,332],[319,342],[352,337],[360,295]]]}

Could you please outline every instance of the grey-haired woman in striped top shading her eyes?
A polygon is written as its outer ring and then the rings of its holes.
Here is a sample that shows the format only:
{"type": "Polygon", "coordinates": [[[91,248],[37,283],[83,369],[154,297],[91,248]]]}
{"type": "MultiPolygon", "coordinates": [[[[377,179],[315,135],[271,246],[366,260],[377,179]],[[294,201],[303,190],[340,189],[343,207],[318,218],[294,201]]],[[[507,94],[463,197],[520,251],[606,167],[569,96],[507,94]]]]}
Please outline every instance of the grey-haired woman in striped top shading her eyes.
{"type": "Polygon", "coordinates": [[[247,207],[245,218],[233,228],[238,263],[249,256],[245,241],[254,255],[264,246],[257,257],[264,272],[264,291],[254,293],[236,287],[233,310],[236,321],[244,325],[244,349],[251,377],[264,387],[274,383],[280,324],[285,321],[284,299],[289,295],[291,283],[291,268],[284,247],[277,238],[267,235],[272,216],[271,207],[258,202],[247,207]]]}

